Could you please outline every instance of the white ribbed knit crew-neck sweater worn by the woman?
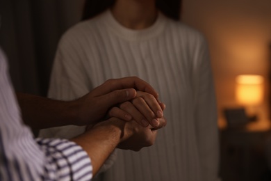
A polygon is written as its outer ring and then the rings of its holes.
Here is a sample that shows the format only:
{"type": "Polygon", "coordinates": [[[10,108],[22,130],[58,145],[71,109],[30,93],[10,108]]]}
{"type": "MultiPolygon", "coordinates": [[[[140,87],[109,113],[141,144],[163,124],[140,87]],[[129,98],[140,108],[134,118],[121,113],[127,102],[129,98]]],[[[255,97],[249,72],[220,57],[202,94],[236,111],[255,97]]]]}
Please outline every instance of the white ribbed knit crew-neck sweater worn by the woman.
{"type": "MultiPolygon", "coordinates": [[[[72,100],[107,79],[137,76],[166,104],[167,126],[155,145],[117,150],[105,180],[218,179],[218,135],[213,77],[204,38],[160,14],[141,31],[118,24],[110,11],[69,29],[60,41],[49,97],[72,100]]],[[[47,129],[42,136],[69,138],[82,127],[47,129]]]]}

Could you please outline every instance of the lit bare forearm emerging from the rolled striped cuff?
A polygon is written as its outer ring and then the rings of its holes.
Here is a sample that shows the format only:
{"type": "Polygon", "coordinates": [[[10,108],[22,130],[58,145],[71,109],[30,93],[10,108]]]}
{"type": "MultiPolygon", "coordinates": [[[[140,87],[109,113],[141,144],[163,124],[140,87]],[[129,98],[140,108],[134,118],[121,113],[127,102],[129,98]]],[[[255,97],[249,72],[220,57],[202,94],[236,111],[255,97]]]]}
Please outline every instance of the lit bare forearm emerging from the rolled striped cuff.
{"type": "Polygon", "coordinates": [[[83,150],[88,153],[92,162],[93,175],[99,171],[99,168],[122,141],[124,124],[122,120],[106,120],[71,140],[81,145],[83,150]]]}

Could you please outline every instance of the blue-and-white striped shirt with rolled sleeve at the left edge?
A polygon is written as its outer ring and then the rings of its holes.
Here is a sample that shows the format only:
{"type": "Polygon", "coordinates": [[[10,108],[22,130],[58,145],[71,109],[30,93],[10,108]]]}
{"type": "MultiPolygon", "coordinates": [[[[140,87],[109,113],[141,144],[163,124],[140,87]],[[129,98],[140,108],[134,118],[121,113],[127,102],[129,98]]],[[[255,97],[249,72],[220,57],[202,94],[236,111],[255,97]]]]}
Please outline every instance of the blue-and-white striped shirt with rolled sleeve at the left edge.
{"type": "Polygon", "coordinates": [[[33,139],[22,123],[0,49],[0,180],[91,180],[87,153],[65,139],[33,139]]]}

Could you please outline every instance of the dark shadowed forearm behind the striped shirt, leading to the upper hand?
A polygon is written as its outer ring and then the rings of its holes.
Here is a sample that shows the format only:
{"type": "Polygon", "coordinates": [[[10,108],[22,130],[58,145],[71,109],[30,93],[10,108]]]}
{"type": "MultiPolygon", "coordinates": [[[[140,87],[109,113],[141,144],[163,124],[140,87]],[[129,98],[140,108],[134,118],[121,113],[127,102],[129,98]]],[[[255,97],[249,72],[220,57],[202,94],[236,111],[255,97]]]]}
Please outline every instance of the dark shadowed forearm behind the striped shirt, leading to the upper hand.
{"type": "Polygon", "coordinates": [[[33,129],[73,125],[76,122],[74,102],[50,100],[25,93],[16,95],[24,123],[33,129]]]}

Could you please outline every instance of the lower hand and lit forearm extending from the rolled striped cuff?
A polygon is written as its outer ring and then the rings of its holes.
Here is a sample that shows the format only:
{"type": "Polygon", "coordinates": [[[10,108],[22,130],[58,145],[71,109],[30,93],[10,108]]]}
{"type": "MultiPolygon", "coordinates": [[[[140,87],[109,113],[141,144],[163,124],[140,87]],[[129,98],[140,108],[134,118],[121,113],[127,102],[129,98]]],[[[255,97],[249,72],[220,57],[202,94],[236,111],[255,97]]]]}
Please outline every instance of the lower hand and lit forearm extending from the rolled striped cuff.
{"type": "Polygon", "coordinates": [[[110,118],[97,123],[72,141],[81,145],[88,153],[95,175],[117,146],[125,150],[138,151],[143,147],[153,145],[156,134],[157,130],[142,127],[134,120],[110,118]]]}

